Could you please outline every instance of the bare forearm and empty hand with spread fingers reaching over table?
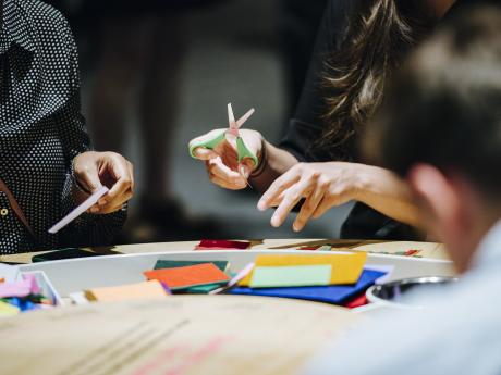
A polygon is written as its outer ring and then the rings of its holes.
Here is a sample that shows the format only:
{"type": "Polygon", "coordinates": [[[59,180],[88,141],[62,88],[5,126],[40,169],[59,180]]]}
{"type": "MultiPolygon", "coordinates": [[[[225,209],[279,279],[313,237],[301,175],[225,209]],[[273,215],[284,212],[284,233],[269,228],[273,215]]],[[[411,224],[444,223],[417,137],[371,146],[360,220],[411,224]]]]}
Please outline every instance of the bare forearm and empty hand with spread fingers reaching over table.
{"type": "Polygon", "coordinates": [[[356,200],[396,221],[418,226],[420,217],[411,191],[393,173],[357,163],[300,163],[277,178],[258,203],[259,210],[277,207],[271,225],[280,226],[305,199],[293,228],[302,230],[313,217],[356,200]]]}

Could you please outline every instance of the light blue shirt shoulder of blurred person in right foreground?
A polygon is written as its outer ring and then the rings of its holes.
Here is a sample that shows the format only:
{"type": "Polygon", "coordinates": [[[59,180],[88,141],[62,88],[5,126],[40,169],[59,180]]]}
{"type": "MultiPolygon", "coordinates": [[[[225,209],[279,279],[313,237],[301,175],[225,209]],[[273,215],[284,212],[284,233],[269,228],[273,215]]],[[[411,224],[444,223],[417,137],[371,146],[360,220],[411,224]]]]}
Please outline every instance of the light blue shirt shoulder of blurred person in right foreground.
{"type": "Polygon", "coordinates": [[[350,368],[354,375],[490,374],[478,364],[501,368],[500,279],[469,279],[447,292],[427,290],[431,298],[415,302],[433,308],[374,316],[318,355],[307,373],[341,374],[350,368]],[[493,279],[496,288],[486,284],[493,279]]]}

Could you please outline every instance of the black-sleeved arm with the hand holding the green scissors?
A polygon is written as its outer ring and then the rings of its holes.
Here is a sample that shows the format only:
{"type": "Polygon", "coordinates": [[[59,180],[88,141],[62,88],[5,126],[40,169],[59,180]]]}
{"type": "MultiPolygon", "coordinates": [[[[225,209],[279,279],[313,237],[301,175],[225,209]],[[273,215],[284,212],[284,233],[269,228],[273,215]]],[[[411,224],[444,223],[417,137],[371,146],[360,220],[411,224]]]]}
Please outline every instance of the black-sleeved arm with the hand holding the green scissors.
{"type": "MultiPolygon", "coordinates": [[[[350,0],[330,0],[326,16],[317,37],[314,55],[306,77],[305,87],[294,115],[289,123],[288,133],[282,141],[276,146],[267,141],[255,130],[242,130],[247,148],[259,158],[257,171],[255,166],[245,163],[246,176],[256,189],[264,191],[271,183],[289,171],[298,162],[332,160],[327,150],[315,147],[315,141],[321,137],[323,121],[322,73],[326,57],[342,38],[345,27],[345,14],[350,0]],[[262,158],[265,155],[265,158],[262,158]],[[256,172],[256,173],[253,173],[256,172]],[[253,177],[253,175],[258,175],[253,177]]],[[[213,130],[205,136],[195,138],[192,142],[207,140],[213,137],[213,130]]],[[[240,165],[235,162],[235,152],[231,145],[224,143],[212,151],[197,149],[196,157],[205,161],[211,182],[228,189],[243,189],[246,182],[239,174],[240,165]]]]}

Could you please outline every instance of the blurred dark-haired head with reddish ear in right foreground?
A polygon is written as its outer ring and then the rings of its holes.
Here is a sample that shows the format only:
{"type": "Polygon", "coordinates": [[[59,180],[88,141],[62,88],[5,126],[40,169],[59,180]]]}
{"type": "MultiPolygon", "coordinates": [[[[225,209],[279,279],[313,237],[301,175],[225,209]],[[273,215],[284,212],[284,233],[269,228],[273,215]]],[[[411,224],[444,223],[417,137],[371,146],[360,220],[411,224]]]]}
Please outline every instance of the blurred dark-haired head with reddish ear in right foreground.
{"type": "Polygon", "coordinates": [[[367,129],[365,150],[408,180],[426,229],[467,270],[501,218],[499,9],[462,13],[411,54],[367,129]]]}

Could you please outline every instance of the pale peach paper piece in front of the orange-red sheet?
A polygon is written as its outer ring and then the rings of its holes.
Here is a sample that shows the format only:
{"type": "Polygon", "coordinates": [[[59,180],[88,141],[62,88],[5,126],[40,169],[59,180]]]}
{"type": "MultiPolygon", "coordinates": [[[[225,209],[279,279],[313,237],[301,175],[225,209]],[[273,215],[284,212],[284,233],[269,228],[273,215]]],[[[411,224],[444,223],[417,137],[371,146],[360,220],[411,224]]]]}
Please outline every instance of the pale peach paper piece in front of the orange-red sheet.
{"type": "Polygon", "coordinates": [[[160,299],[168,293],[163,286],[157,280],[121,285],[117,287],[95,288],[85,291],[89,301],[129,301],[137,299],[160,299]]]}

